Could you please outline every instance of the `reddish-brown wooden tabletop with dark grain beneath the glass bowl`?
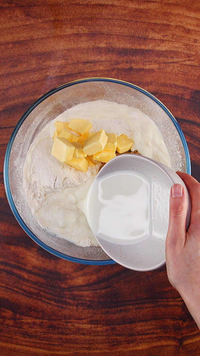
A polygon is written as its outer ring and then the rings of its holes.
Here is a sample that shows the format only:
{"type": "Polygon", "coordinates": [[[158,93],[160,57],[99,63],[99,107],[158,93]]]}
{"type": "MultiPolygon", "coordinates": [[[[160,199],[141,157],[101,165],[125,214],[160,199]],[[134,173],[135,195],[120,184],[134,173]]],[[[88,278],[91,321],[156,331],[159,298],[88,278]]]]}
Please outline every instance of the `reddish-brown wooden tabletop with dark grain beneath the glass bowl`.
{"type": "Polygon", "coordinates": [[[112,77],[177,118],[199,179],[199,1],[0,1],[0,356],[199,356],[200,332],[166,268],[86,266],[37,246],[6,199],[17,121],[70,80],[112,77]]]}

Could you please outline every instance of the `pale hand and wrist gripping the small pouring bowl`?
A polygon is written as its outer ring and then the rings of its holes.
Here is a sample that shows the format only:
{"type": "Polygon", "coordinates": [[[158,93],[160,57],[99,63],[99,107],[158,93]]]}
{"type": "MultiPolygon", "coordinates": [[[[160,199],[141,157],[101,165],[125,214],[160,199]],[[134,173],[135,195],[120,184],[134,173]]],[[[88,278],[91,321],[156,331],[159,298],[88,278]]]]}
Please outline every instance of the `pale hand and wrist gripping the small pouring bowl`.
{"type": "Polygon", "coordinates": [[[174,184],[166,238],[167,275],[200,329],[200,183],[189,174],[177,174],[189,190],[192,209],[186,231],[185,191],[182,185],[174,184]]]}

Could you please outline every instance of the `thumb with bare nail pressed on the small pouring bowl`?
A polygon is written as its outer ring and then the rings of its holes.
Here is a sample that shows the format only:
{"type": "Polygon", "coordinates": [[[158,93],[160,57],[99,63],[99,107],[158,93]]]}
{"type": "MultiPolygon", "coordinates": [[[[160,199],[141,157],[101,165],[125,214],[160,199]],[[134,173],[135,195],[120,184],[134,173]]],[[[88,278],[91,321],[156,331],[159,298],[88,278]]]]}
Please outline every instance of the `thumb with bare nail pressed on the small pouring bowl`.
{"type": "Polygon", "coordinates": [[[184,188],[181,184],[174,184],[170,192],[167,245],[174,246],[174,244],[181,242],[181,240],[185,242],[186,214],[187,201],[184,188]]]}

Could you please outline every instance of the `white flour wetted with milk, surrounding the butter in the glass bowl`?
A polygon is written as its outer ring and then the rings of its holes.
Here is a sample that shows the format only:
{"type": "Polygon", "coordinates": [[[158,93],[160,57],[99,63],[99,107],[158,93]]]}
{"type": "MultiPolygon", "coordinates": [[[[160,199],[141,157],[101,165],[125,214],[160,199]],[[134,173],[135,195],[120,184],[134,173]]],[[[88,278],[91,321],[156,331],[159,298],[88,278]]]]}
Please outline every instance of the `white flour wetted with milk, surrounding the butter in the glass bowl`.
{"type": "Polygon", "coordinates": [[[90,131],[104,129],[108,133],[132,137],[132,149],[170,167],[163,137],[156,124],[139,109],[98,100],[79,104],[52,120],[36,137],[27,153],[24,166],[24,189],[33,216],[43,229],[79,246],[97,246],[77,203],[84,199],[98,173],[100,163],[79,172],[51,156],[55,121],[87,119],[90,131]]]}

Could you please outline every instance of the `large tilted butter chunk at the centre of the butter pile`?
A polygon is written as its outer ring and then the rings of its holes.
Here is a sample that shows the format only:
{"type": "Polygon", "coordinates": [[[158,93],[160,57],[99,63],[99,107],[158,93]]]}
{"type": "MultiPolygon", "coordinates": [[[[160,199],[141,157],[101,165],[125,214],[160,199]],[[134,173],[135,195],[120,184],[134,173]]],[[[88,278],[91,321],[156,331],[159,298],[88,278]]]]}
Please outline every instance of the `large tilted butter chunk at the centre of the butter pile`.
{"type": "Polygon", "coordinates": [[[93,136],[87,138],[83,145],[83,151],[88,155],[94,155],[94,153],[102,151],[106,145],[107,136],[104,130],[96,132],[93,136]]]}

